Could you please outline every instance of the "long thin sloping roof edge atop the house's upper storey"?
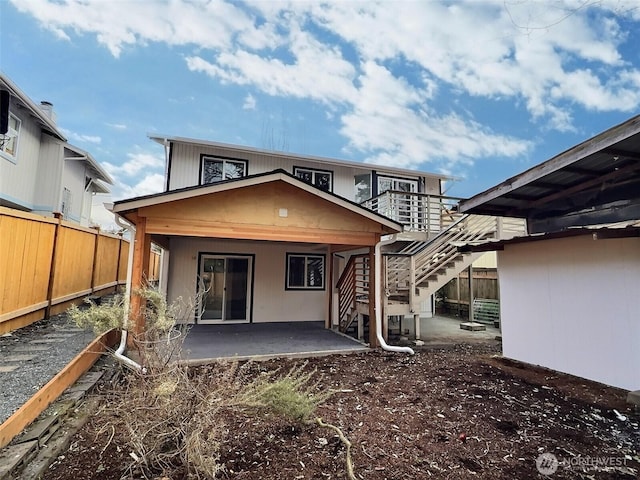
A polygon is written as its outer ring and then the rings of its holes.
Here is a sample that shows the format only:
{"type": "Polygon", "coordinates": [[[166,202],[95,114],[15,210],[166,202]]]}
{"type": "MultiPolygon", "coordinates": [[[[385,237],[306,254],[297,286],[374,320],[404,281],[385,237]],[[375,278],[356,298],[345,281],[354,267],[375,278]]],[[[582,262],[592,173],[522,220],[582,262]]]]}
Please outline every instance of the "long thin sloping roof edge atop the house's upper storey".
{"type": "Polygon", "coordinates": [[[455,177],[448,176],[448,175],[422,172],[422,171],[410,170],[406,168],[388,167],[384,165],[374,165],[371,163],[363,163],[363,162],[350,162],[347,160],[339,160],[339,159],[328,158],[328,157],[317,157],[312,155],[297,155],[297,154],[292,154],[288,152],[279,152],[275,150],[262,150],[259,148],[247,147],[243,145],[211,142],[209,140],[198,140],[198,139],[186,138],[186,137],[175,137],[175,136],[169,136],[169,135],[148,135],[148,136],[151,140],[164,146],[168,146],[170,142],[185,143],[189,145],[201,145],[201,146],[212,147],[212,148],[230,149],[230,150],[235,150],[236,152],[259,154],[259,155],[264,155],[268,157],[284,158],[291,161],[306,160],[310,162],[320,162],[325,165],[351,167],[351,168],[360,169],[360,170],[379,170],[379,171],[388,172],[388,173],[395,173],[397,175],[409,175],[412,177],[429,177],[429,178],[437,178],[441,180],[456,180],[455,177]]]}

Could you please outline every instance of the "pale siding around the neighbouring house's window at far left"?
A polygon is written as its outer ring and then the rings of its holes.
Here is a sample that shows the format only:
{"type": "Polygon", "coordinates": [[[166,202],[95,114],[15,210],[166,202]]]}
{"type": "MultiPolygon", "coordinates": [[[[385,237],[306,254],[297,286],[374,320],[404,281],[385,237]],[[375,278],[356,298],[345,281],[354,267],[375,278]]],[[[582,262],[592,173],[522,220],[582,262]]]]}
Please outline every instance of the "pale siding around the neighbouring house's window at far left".
{"type": "Polygon", "coordinates": [[[34,172],[38,171],[40,157],[40,127],[25,110],[15,107],[13,98],[11,100],[10,111],[20,119],[21,125],[17,158],[9,160],[0,156],[0,197],[23,208],[32,209],[36,204],[34,172]]]}

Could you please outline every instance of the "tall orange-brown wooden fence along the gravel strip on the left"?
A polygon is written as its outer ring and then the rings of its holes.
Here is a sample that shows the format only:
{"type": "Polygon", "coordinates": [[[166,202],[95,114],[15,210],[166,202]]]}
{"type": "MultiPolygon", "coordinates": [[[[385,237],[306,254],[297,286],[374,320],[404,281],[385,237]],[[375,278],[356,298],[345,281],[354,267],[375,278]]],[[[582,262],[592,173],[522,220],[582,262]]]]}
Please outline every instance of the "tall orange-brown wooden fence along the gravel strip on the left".
{"type": "MultiPolygon", "coordinates": [[[[59,218],[0,207],[0,334],[127,280],[129,242],[59,218]]],[[[152,252],[150,280],[158,279],[152,252]]]]}

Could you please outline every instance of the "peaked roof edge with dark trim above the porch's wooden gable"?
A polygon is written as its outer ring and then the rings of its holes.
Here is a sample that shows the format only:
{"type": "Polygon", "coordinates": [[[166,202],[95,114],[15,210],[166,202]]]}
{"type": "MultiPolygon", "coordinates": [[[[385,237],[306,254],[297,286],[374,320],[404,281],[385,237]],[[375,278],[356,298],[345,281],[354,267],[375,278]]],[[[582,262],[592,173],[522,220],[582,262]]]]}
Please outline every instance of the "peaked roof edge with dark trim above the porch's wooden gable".
{"type": "Polygon", "coordinates": [[[261,173],[257,175],[249,175],[246,177],[235,178],[232,180],[225,180],[222,182],[211,183],[207,185],[198,185],[195,187],[187,187],[179,190],[171,190],[168,192],[156,193],[151,195],[145,195],[128,200],[119,200],[113,204],[113,213],[125,215],[128,212],[132,212],[139,208],[159,205],[162,203],[174,202],[177,200],[184,200],[188,198],[199,197],[203,195],[209,195],[212,193],[224,192],[229,190],[235,190],[242,187],[248,187],[253,185],[262,185],[269,182],[282,181],[292,185],[300,190],[304,190],[312,195],[317,196],[330,203],[346,208],[358,215],[368,218],[384,225],[392,231],[401,232],[403,226],[383,215],[380,215],[372,210],[369,210],[357,203],[351,202],[345,198],[340,197],[331,192],[325,192],[319,188],[303,182],[298,177],[291,175],[290,173],[279,169],[272,172],[261,173]]]}

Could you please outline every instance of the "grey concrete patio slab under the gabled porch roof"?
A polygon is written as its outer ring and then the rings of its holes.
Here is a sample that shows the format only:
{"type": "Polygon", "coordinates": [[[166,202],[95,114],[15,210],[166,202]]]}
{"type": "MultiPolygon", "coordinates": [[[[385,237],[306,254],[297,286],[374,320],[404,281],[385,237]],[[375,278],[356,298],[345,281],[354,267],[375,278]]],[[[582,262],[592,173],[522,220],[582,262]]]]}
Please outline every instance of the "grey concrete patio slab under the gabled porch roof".
{"type": "Polygon", "coordinates": [[[183,345],[191,365],[216,359],[310,357],[368,351],[362,343],[324,328],[323,322],[192,325],[183,345]]]}

